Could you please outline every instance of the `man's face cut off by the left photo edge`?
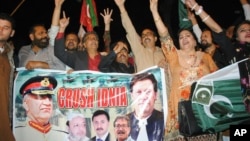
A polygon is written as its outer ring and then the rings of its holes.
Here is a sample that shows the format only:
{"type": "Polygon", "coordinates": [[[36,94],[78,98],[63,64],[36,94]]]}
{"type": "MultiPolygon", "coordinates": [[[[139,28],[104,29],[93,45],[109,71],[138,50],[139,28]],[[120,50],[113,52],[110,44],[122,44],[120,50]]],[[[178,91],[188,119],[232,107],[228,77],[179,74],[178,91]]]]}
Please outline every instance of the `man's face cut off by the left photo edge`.
{"type": "Polygon", "coordinates": [[[0,19],[0,42],[6,42],[14,33],[15,31],[12,29],[11,23],[0,19]]]}

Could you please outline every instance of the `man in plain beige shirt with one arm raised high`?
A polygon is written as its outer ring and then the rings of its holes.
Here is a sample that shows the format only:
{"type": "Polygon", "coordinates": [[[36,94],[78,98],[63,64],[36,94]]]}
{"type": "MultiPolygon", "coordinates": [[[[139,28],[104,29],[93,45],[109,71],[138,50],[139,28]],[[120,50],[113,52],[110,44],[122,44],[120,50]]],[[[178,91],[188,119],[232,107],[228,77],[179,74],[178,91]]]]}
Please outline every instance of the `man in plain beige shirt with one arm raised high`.
{"type": "MultiPolygon", "coordinates": [[[[139,36],[125,8],[126,0],[114,0],[121,13],[121,22],[126,30],[126,37],[135,56],[136,71],[142,71],[152,66],[165,68],[166,61],[162,49],[156,45],[157,34],[145,28],[139,36]]],[[[167,71],[166,71],[167,72],[167,71]]]]}

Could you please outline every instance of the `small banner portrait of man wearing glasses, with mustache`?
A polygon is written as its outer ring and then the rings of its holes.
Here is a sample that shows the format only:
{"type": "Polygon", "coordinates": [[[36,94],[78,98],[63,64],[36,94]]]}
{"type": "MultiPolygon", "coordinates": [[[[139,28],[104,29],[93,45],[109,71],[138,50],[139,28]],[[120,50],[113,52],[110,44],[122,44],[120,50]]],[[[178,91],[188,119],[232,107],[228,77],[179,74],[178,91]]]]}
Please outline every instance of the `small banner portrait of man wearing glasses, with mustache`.
{"type": "Polygon", "coordinates": [[[130,119],[128,116],[117,116],[114,120],[116,141],[133,141],[129,136],[131,131],[130,119]]]}

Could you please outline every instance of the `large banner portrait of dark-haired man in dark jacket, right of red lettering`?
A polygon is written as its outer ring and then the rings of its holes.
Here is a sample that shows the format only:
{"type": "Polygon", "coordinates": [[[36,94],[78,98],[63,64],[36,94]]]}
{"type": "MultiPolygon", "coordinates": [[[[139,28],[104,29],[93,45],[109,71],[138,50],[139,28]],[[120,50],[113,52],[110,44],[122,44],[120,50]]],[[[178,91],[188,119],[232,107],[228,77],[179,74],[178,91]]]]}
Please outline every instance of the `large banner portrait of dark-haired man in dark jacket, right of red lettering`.
{"type": "Polygon", "coordinates": [[[131,137],[137,141],[162,141],[164,134],[163,112],[155,109],[158,87],[152,73],[135,75],[130,82],[134,111],[130,119],[131,137]]]}

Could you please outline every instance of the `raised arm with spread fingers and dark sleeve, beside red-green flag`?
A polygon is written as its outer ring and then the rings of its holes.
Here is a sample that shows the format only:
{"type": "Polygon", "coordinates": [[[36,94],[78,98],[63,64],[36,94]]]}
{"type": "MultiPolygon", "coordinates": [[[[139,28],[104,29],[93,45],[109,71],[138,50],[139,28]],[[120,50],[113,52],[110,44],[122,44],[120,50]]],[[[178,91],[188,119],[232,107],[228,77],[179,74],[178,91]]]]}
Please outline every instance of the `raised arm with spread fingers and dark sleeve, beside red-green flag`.
{"type": "Polygon", "coordinates": [[[104,20],[104,34],[103,34],[103,41],[104,41],[104,46],[105,46],[105,51],[107,53],[110,52],[110,43],[111,43],[111,37],[110,37],[110,23],[113,21],[111,18],[113,13],[113,9],[109,10],[109,8],[104,9],[103,13],[100,13],[100,15],[103,17],[104,20]]]}

